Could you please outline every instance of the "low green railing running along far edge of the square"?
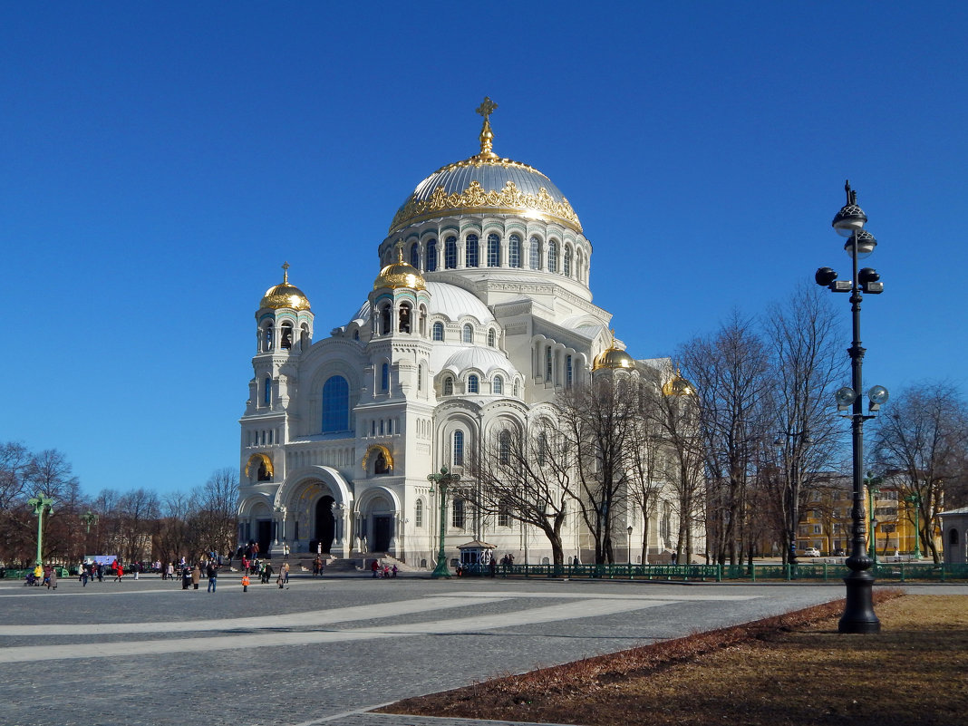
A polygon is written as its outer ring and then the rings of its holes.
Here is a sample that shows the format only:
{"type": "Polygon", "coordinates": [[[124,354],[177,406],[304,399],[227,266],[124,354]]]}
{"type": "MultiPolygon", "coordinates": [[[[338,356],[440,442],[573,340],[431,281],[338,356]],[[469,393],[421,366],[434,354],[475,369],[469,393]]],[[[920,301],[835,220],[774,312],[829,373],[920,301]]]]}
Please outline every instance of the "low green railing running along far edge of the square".
{"type": "MultiPolygon", "coordinates": [[[[883,562],[870,568],[880,581],[958,582],[968,580],[968,564],[933,562],[883,562]]],[[[499,564],[497,577],[604,579],[604,580],[680,580],[683,582],[814,581],[840,582],[850,572],[843,562],[798,562],[797,564],[499,564]]],[[[462,568],[470,577],[491,575],[489,565],[471,564],[462,568]]]]}

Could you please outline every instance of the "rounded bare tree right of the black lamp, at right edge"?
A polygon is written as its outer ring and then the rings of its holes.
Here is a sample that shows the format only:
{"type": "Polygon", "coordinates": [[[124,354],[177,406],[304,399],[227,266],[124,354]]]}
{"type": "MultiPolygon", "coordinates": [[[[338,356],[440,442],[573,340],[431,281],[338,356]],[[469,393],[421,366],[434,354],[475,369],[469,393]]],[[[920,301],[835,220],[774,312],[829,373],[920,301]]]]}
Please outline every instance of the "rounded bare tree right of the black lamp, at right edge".
{"type": "Polygon", "coordinates": [[[935,562],[941,557],[934,537],[938,515],[949,486],[964,481],[966,448],[968,407],[947,382],[904,389],[875,419],[873,458],[881,468],[896,471],[903,494],[917,504],[918,536],[935,562]]]}

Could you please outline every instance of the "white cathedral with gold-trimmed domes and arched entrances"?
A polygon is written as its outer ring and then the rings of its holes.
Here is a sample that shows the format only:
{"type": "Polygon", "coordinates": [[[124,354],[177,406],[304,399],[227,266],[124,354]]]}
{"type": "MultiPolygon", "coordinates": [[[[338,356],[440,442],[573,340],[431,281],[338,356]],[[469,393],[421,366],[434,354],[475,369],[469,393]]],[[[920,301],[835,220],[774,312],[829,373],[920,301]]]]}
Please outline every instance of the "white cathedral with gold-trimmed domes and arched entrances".
{"type": "MultiPolygon", "coordinates": [[[[288,265],[262,297],[240,419],[240,545],[433,568],[440,502],[428,474],[461,472],[507,426],[528,432],[553,415],[557,392],[597,372],[650,366],[674,382],[669,359],[620,349],[611,314],[591,302],[578,215],[547,176],[493,151],[496,107],[485,99],[477,109],[480,152],[439,168],[397,210],[373,290],[329,337],[314,340],[309,298],[288,265]]],[[[464,546],[549,561],[539,530],[481,516],[459,496],[445,507],[448,560],[464,546]]],[[[674,549],[679,529],[673,507],[652,516],[650,558],[674,549]]],[[[617,530],[632,528],[637,562],[643,517],[627,520],[617,530]]],[[[569,518],[564,551],[590,562],[580,521],[569,518]]]]}

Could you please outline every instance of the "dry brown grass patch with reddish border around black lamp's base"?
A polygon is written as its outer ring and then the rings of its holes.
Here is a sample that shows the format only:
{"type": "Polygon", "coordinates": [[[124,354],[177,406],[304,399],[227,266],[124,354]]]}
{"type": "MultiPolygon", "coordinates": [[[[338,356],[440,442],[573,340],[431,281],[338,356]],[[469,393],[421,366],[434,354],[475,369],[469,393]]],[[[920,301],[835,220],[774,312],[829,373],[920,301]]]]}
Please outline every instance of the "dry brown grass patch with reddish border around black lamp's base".
{"type": "Polygon", "coordinates": [[[960,723],[968,599],[875,593],[879,635],[842,601],[401,701],[383,711],[616,726],[960,723]]]}

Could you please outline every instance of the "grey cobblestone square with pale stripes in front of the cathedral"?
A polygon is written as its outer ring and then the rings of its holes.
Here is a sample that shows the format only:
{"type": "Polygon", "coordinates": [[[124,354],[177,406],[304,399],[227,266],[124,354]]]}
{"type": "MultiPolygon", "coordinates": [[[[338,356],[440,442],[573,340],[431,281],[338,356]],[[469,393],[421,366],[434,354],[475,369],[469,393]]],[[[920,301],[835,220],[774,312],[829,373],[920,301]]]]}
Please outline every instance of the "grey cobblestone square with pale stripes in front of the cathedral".
{"type": "MultiPolygon", "coordinates": [[[[0,581],[5,726],[443,726],[366,711],[500,674],[756,620],[842,586],[238,576],[56,591],[0,581]]],[[[965,590],[960,590],[965,591],[965,590]]],[[[498,723],[498,722],[491,722],[498,723]]]]}

